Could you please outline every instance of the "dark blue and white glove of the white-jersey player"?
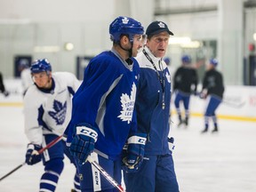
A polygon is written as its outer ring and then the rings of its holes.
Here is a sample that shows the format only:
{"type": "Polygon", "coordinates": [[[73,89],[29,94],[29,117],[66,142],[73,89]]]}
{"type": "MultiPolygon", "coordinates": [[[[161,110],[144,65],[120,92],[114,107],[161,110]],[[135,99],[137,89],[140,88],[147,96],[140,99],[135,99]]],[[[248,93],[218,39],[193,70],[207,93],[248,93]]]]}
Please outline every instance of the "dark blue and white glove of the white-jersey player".
{"type": "Polygon", "coordinates": [[[32,143],[28,144],[26,153],[26,163],[29,165],[36,164],[41,161],[41,155],[38,153],[42,147],[32,143]]]}

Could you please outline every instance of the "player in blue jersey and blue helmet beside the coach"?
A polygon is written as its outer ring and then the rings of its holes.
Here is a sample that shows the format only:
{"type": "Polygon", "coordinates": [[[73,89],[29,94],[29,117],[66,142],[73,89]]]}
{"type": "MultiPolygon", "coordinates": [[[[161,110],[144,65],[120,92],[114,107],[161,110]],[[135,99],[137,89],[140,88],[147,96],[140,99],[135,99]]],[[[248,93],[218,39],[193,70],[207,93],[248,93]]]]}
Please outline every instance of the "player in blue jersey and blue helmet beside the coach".
{"type": "Polygon", "coordinates": [[[87,162],[92,159],[121,183],[121,154],[128,139],[125,164],[136,169],[143,159],[145,134],[137,134],[134,108],[140,67],[132,58],[142,47],[144,28],[129,17],[109,25],[111,51],[94,57],[84,71],[84,81],[73,99],[67,145],[75,156],[82,191],[116,191],[87,162]],[[92,151],[97,153],[92,153],[92,151]]]}

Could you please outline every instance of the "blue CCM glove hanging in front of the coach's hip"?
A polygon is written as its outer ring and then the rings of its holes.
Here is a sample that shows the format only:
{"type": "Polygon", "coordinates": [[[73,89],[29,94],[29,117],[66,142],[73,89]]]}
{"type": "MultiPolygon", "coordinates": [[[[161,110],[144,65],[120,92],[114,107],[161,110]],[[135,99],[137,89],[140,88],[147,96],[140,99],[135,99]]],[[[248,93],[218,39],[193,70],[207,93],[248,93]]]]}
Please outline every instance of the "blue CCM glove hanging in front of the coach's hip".
{"type": "Polygon", "coordinates": [[[146,141],[146,133],[136,133],[128,139],[127,145],[124,146],[124,171],[135,172],[139,169],[143,161],[146,141]]]}

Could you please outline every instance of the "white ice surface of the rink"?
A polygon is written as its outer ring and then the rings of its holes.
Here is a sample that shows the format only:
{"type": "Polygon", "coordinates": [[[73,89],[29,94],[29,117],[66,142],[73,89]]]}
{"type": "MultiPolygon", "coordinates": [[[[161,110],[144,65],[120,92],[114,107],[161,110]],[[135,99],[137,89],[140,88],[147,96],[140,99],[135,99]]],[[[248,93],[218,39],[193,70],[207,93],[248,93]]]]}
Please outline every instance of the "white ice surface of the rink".
{"type": "MultiPolygon", "coordinates": [[[[22,106],[0,106],[0,177],[25,160],[28,140],[23,132],[22,106]]],[[[256,123],[219,119],[220,132],[204,135],[202,116],[191,116],[187,129],[177,128],[173,158],[181,192],[255,192],[256,123]]],[[[57,192],[69,192],[75,173],[65,161],[57,192]]],[[[0,181],[1,192],[36,192],[41,163],[25,164],[0,181]]]]}

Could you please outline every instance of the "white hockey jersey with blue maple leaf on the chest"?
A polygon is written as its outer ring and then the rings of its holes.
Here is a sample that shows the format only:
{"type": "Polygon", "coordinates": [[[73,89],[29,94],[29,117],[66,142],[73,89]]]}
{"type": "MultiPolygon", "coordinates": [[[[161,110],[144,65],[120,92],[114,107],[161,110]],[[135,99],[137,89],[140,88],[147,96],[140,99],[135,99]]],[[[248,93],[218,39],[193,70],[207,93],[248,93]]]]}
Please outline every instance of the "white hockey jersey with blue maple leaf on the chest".
{"type": "Polygon", "coordinates": [[[33,84],[24,97],[25,133],[29,142],[41,145],[43,134],[61,135],[71,116],[72,95],[80,82],[71,73],[52,73],[52,90],[33,84]]]}

